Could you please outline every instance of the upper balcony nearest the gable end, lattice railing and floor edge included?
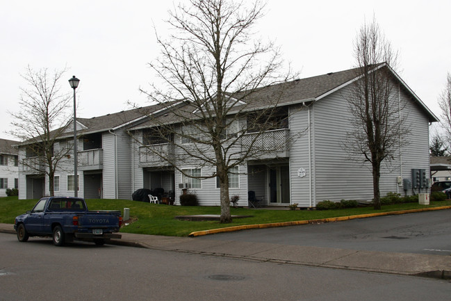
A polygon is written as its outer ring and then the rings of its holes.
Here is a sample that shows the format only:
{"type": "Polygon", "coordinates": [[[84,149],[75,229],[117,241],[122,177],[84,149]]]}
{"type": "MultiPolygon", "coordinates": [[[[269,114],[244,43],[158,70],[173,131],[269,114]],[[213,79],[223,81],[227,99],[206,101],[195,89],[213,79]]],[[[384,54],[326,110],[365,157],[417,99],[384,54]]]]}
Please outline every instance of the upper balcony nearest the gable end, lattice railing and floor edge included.
{"type": "Polygon", "coordinates": [[[241,140],[241,149],[247,152],[252,145],[250,156],[276,158],[290,156],[289,129],[274,129],[264,133],[246,133],[241,140]]]}

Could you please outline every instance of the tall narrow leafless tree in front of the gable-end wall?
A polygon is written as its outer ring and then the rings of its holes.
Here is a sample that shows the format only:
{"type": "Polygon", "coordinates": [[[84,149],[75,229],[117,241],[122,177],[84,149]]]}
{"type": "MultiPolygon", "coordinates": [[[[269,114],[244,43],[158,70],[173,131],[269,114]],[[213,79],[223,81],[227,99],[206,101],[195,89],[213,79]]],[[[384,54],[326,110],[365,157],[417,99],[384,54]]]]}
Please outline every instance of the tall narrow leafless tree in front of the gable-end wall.
{"type": "Polygon", "coordinates": [[[393,71],[397,53],[386,40],[375,19],[364,24],[354,41],[359,79],[347,97],[352,113],[352,130],[347,133],[347,149],[354,160],[370,163],[375,209],[381,208],[379,179],[381,165],[390,165],[402,145],[406,145],[405,104],[393,92],[393,71]]]}

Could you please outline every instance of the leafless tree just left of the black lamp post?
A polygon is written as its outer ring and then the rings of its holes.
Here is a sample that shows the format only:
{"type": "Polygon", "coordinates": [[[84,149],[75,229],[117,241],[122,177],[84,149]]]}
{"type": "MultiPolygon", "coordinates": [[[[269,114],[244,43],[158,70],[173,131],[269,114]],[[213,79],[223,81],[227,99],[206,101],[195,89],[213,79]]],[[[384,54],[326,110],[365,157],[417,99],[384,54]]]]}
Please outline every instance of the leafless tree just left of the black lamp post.
{"type": "Polygon", "coordinates": [[[47,68],[35,71],[28,66],[21,74],[27,86],[20,88],[20,111],[11,113],[14,129],[10,134],[19,138],[27,156],[33,157],[21,163],[28,170],[47,174],[51,195],[54,195],[58,162],[71,151],[71,147],[54,149],[55,141],[63,136],[70,119],[71,95],[60,91],[60,80],[65,71],[49,72],[47,68]]]}

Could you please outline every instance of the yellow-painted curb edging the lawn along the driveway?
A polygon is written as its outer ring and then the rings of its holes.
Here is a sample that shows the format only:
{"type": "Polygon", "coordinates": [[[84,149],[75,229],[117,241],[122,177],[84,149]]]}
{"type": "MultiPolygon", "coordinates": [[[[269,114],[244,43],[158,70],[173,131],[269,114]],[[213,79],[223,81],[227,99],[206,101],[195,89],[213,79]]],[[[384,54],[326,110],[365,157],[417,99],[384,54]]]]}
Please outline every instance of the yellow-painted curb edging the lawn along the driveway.
{"type": "Polygon", "coordinates": [[[350,216],[339,216],[337,218],[320,218],[318,220],[295,220],[293,222],[271,222],[268,224],[240,225],[240,226],[225,227],[225,228],[218,228],[218,229],[194,231],[194,232],[191,232],[188,236],[195,237],[195,236],[203,236],[203,235],[208,235],[208,234],[217,234],[217,233],[224,233],[224,232],[233,232],[233,231],[240,231],[240,230],[247,230],[247,229],[287,227],[287,226],[315,224],[315,223],[320,223],[320,222],[341,222],[343,220],[354,220],[356,218],[372,218],[375,216],[397,215],[397,214],[416,213],[416,212],[422,212],[422,211],[434,211],[434,210],[443,210],[443,209],[451,209],[451,206],[409,209],[409,210],[400,210],[400,211],[388,211],[388,212],[378,212],[378,213],[367,213],[367,214],[350,215],[350,216]]]}

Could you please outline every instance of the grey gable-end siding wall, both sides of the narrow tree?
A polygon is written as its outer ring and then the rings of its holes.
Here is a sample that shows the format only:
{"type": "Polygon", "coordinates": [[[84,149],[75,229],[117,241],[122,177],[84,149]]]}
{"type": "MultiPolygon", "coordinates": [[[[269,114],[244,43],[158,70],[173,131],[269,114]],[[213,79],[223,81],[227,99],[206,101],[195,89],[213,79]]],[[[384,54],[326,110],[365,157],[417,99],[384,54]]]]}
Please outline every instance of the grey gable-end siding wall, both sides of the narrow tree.
{"type": "MultiPolygon", "coordinates": [[[[347,110],[343,95],[347,88],[335,92],[315,103],[314,112],[314,164],[315,164],[315,201],[322,200],[372,200],[372,174],[370,165],[350,160],[342,147],[349,120],[352,118],[347,110]]],[[[398,90],[393,92],[398,99],[398,90]]],[[[409,146],[395,154],[390,165],[382,164],[379,181],[381,195],[388,192],[402,193],[397,176],[411,178],[411,168],[429,170],[429,129],[428,120],[420,107],[400,91],[402,101],[408,101],[402,115],[408,114],[410,124],[409,146]],[[402,164],[400,160],[402,158],[402,164]]],[[[407,191],[411,195],[411,191],[407,191]]]]}

